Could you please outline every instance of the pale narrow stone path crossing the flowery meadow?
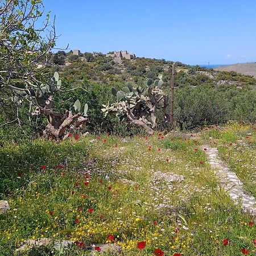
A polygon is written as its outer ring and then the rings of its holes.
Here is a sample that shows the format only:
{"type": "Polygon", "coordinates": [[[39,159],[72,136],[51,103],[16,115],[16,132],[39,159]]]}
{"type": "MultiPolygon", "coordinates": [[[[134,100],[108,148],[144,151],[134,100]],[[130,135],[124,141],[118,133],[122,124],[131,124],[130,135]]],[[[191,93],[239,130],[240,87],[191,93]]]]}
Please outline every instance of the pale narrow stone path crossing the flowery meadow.
{"type": "Polygon", "coordinates": [[[234,200],[235,204],[241,204],[245,212],[256,216],[256,201],[253,196],[246,194],[243,184],[237,175],[218,157],[218,150],[215,147],[202,146],[207,148],[205,151],[208,155],[210,166],[217,175],[220,185],[234,200]]]}

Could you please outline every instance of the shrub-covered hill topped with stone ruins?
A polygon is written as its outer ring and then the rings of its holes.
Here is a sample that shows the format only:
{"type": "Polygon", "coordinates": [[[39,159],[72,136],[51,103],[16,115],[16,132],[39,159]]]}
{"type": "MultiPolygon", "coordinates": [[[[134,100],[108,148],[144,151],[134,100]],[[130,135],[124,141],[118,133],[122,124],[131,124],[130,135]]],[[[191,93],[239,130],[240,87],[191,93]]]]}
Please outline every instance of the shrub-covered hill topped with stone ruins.
{"type": "MultiPolygon", "coordinates": [[[[63,77],[63,81],[77,83],[88,80],[110,86],[117,86],[117,84],[121,86],[126,82],[134,82],[141,86],[144,84],[145,79],[158,79],[159,73],[162,73],[163,87],[170,87],[173,61],[135,57],[135,55],[131,56],[131,53],[127,53],[128,58],[125,54],[125,57],[123,57],[122,52],[126,53],[126,51],[119,52],[119,55],[118,52],[110,52],[108,54],[74,52],[76,54],[73,54],[72,51],[49,53],[48,70],[44,70],[50,73],[59,72],[59,75],[63,77]],[[122,56],[120,53],[122,53],[122,56]]],[[[43,63],[39,64],[43,65],[43,63]]],[[[212,68],[200,67],[199,65],[190,66],[176,62],[176,87],[218,85],[233,85],[242,88],[244,86],[252,86],[256,88],[256,72],[255,77],[251,77],[234,71],[220,72],[212,68]]]]}

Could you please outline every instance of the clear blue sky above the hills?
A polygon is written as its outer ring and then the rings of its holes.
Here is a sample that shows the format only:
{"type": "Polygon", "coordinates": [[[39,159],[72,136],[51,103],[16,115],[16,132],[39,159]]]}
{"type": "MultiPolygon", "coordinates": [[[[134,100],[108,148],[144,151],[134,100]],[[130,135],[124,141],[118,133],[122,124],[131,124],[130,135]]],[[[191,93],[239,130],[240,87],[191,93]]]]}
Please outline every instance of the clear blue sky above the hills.
{"type": "Polygon", "coordinates": [[[255,0],[43,0],[57,47],[186,64],[256,62],[255,0]]]}

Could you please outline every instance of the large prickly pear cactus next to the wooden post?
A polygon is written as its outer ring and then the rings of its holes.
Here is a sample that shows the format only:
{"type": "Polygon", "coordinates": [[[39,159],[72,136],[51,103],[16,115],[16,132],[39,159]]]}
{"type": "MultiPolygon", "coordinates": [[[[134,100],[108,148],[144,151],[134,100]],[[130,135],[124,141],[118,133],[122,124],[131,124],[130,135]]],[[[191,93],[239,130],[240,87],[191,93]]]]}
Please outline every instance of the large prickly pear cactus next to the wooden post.
{"type": "Polygon", "coordinates": [[[163,85],[163,75],[159,74],[158,80],[147,79],[145,85],[133,86],[128,83],[118,90],[112,88],[112,94],[117,101],[111,105],[102,105],[102,112],[105,116],[109,113],[116,113],[119,121],[126,121],[143,126],[146,130],[152,131],[156,127],[155,112],[162,109],[164,118],[167,120],[168,96],[164,94],[161,86],[163,85]]]}

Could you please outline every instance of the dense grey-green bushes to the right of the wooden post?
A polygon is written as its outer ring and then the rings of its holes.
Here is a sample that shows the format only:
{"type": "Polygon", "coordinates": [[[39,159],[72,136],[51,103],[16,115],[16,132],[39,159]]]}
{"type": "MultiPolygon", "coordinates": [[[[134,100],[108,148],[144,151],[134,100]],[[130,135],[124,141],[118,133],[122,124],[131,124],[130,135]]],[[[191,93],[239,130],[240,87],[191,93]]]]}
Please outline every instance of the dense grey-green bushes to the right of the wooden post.
{"type": "Polygon", "coordinates": [[[256,91],[239,88],[179,88],[175,91],[175,121],[180,129],[225,123],[254,122],[256,91]]]}

